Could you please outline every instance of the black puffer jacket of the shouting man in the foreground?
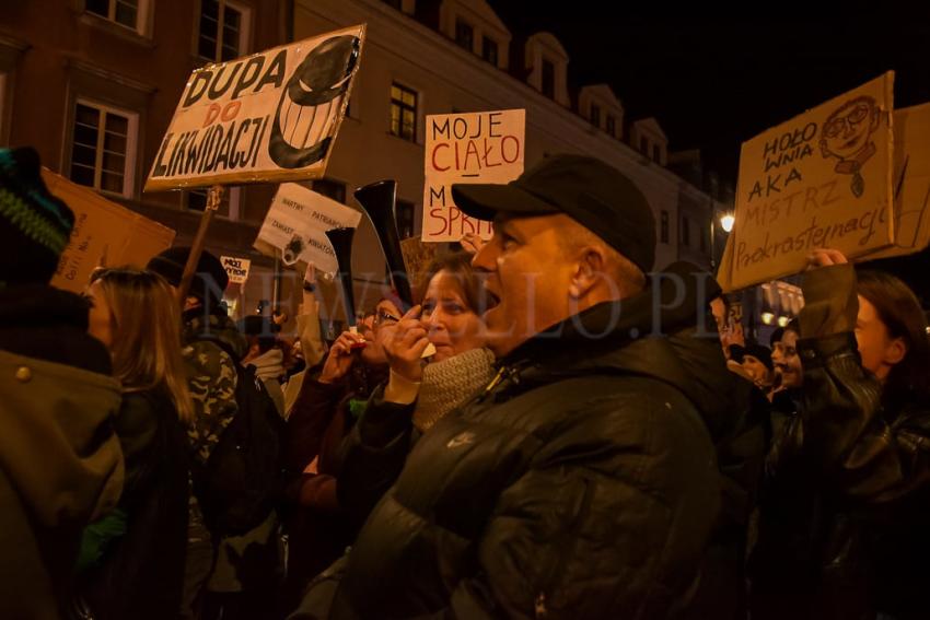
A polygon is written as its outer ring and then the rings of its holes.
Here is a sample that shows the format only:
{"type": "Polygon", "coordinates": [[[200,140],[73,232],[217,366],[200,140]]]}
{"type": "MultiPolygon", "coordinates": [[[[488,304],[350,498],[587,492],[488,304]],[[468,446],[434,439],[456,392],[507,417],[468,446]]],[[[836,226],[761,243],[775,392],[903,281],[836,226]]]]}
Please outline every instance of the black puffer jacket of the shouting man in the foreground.
{"type": "MultiPolygon", "coordinates": [[[[426,433],[362,528],[329,617],[681,611],[718,516],[708,428],[732,381],[719,343],[694,335],[702,301],[684,280],[662,316],[675,293],[656,288],[527,341],[426,433]],[[636,338],[653,331],[674,336],[636,338]]],[[[385,463],[409,442],[409,412],[393,413],[367,424],[393,436],[385,463]]]]}

